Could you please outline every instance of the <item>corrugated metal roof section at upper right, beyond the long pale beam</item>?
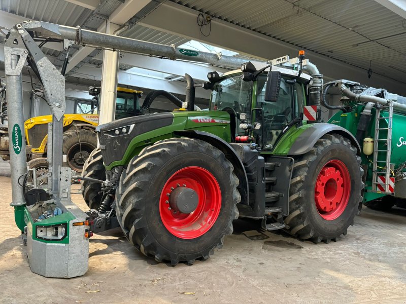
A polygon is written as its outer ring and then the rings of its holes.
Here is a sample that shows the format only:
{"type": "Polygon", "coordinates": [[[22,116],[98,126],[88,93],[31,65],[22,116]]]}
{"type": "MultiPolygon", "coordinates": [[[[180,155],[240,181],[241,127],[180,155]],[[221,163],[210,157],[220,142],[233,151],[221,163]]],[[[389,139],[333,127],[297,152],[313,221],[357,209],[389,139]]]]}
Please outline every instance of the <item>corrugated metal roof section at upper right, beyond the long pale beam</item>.
{"type": "Polygon", "coordinates": [[[171,1],[406,84],[406,21],[375,1],[171,1]]]}

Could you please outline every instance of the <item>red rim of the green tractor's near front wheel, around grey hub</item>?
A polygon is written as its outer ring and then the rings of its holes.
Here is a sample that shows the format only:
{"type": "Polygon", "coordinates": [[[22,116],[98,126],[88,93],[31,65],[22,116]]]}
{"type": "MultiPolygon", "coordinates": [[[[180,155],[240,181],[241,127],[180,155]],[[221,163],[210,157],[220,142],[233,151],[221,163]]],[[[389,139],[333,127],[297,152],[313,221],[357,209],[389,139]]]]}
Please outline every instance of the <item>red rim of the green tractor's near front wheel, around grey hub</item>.
{"type": "Polygon", "coordinates": [[[216,222],[220,209],[220,186],[213,174],[201,167],[186,167],[175,172],[163,186],[159,199],[163,224],[181,239],[194,239],[207,233],[216,222]],[[170,209],[168,197],[173,188],[179,186],[193,189],[198,196],[197,207],[191,213],[170,209]]]}

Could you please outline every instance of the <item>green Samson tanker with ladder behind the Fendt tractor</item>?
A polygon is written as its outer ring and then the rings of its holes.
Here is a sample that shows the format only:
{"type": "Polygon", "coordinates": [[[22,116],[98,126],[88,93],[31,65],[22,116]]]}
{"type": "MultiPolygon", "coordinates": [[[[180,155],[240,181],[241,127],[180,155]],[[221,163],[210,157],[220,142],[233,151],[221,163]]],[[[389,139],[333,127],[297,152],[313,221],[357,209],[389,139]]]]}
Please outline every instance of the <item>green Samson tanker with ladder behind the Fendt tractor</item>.
{"type": "Polygon", "coordinates": [[[327,83],[322,97],[325,107],[339,110],[329,123],[349,130],[362,147],[363,204],[406,208],[406,97],[348,80],[327,83]],[[326,102],[330,87],[342,91],[341,105],[326,102]]]}

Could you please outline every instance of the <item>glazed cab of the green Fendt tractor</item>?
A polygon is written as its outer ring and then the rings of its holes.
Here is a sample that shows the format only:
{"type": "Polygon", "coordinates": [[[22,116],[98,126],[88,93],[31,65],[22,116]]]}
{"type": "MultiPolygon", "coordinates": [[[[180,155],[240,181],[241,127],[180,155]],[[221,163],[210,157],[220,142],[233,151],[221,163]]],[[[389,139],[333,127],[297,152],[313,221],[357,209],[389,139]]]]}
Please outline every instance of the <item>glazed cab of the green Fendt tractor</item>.
{"type": "Polygon", "coordinates": [[[231,134],[235,130],[231,141],[250,136],[248,142],[272,151],[292,121],[301,117],[306,100],[303,83],[292,75],[281,74],[279,94],[270,101],[266,98],[268,73],[260,73],[250,81],[244,80],[243,74],[229,72],[213,83],[210,109],[230,113],[231,121],[235,121],[230,125],[231,134]]]}

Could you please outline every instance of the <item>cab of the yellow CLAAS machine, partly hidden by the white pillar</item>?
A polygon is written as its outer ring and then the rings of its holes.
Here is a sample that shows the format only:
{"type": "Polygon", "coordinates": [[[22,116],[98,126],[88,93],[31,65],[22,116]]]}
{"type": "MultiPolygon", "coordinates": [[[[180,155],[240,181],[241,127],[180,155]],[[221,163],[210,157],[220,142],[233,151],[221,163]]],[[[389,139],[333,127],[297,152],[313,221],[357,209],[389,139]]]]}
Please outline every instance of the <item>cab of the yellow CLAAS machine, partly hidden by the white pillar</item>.
{"type": "MultiPolygon", "coordinates": [[[[91,113],[93,114],[100,103],[100,87],[90,87],[89,94],[94,96],[91,104],[91,113]]],[[[140,115],[139,98],[143,96],[142,91],[131,90],[127,88],[117,88],[115,119],[140,115]]]]}

